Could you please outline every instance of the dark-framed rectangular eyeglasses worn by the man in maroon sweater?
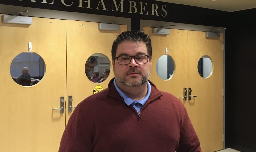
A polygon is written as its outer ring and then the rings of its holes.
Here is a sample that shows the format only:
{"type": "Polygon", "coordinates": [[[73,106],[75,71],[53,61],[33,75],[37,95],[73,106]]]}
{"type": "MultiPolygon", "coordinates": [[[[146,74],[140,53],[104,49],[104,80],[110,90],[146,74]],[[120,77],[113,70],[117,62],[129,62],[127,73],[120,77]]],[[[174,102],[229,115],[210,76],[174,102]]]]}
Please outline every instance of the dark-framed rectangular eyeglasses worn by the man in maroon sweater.
{"type": "Polygon", "coordinates": [[[127,65],[130,64],[132,58],[134,58],[137,64],[146,64],[148,62],[149,55],[136,55],[136,56],[118,56],[116,57],[118,64],[127,65]]]}

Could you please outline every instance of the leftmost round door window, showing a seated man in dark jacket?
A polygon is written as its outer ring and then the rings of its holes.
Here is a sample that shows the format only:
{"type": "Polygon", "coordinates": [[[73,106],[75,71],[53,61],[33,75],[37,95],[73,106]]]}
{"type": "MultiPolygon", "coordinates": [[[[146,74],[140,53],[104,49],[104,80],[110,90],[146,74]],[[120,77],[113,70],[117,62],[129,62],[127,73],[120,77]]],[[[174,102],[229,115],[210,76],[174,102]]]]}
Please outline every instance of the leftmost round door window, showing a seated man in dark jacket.
{"type": "Polygon", "coordinates": [[[44,60],[34,52],[20,53],[12,60],[10,74],[14,82],[19,85],[35,85],[44,77],[44,60]]]}

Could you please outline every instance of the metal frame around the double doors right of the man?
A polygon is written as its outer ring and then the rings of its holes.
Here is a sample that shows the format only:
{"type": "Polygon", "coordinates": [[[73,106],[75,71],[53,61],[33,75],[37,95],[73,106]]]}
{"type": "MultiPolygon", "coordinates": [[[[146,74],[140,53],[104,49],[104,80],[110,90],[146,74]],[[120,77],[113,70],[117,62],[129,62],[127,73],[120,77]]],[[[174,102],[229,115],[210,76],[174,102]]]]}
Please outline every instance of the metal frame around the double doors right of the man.
{"type": "Polygon", "coordinates": [[[222,100],[223,100],[223,149],[225,149],[225,30],[226,28],[215,27],[215,26],[184,24],[184,23],[174,23],[174,22],[164,22],[164,21],[154,21],[154,20],[140,20],[140,30],[143,30],[143,27],[223,33],[223,98],[222,100]]]}

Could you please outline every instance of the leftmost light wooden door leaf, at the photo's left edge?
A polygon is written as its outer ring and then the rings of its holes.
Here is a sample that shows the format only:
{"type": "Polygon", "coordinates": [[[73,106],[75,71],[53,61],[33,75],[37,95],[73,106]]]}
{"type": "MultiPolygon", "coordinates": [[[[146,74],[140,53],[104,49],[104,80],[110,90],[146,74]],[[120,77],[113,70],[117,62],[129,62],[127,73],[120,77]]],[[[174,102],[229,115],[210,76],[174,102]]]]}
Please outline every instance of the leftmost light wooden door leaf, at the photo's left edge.
{"type": "Polygon", "coordinates": [[[58,151],[65,115],[52,109],[60,108],[60,96],[66,95],[66,20],[1,22],[0,31],[0,151],[58,151]],[[10,65],[28,52],[28,42],[44,59],[46,72],[40,83],[25,87],[12,80],[10,65]]]}

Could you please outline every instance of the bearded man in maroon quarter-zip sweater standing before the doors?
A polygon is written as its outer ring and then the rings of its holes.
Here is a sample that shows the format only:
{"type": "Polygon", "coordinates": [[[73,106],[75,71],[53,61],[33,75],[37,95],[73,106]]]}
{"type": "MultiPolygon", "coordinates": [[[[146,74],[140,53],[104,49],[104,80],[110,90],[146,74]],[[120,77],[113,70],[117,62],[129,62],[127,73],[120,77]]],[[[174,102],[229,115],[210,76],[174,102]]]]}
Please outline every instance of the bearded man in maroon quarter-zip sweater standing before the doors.
{"type": "Polygon", "coordinates": [[[151,40],[143,32],[117,36],[112,46],[115,78],[76,107],[60,152],[201,151],[182,102],[148,81],[151,56],[151,40]]]}

